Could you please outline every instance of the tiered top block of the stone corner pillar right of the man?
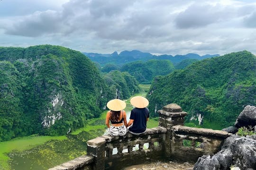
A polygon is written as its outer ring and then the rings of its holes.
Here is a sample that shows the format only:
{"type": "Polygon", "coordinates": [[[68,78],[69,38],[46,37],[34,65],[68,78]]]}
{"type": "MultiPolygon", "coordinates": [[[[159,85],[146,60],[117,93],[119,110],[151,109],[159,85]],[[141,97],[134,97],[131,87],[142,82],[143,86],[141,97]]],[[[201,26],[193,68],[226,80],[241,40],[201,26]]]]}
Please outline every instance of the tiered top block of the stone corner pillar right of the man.
{"type": "Polygon", "coordinates": [[[158,110],[159,126],[170,128],[175,125],[184,125],[184,117],[188,114],[182,111],[182,108],[175,103],[167,104],[163,110],[158,110]]]}

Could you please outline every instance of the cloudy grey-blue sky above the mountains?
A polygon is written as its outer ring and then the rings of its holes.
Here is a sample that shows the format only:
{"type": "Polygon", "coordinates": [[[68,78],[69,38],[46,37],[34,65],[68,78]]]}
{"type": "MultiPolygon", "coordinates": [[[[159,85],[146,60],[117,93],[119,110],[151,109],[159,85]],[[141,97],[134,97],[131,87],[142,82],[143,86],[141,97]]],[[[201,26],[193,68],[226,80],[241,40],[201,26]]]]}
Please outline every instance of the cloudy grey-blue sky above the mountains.
{"type": "Polygon", "coordinates": [[[0,0],[0,46],[256,54],[255,0],[0,0]]]}

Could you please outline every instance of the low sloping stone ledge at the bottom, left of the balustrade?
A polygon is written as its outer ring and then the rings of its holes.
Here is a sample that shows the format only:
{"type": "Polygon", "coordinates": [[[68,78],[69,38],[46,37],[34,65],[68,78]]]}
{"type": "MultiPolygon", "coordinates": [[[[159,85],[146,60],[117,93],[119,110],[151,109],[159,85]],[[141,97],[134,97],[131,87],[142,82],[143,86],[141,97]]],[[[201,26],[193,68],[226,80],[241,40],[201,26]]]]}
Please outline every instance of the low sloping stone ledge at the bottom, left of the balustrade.
{"type": "Polygon", "coordinates": [[[83,155],[49,170],[77,170],[93,162],[93,156],[83,155]]]}

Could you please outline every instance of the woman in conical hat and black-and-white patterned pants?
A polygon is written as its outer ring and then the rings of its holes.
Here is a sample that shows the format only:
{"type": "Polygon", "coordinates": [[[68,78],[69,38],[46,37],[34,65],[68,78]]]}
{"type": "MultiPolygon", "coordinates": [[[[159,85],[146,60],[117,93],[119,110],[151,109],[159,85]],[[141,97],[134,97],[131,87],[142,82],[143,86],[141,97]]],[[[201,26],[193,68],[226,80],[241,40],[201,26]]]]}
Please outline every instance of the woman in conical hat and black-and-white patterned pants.
{"type": "Polygon", "coordinates": [[[106,125],[109,128],[111,136],[124,136],[127,133],[127,120],[126,112],[123,110],[126,107],[126,103],[119,99],[110,100],[107,103],[107,107],[110,109],[106,116],[106,125]],[[110,126],[111,122],[111,126],[110,126]]]}

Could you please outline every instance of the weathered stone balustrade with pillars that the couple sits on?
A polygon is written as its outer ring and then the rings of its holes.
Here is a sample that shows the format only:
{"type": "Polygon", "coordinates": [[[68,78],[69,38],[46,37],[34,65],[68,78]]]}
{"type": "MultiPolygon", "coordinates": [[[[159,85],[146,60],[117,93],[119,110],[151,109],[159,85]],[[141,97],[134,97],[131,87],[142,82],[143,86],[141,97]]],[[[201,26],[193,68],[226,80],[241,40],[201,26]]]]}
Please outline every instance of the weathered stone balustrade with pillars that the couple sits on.
{"type": "Polygon", "coordinates": [[[159,126],[146,129],[139,136],[99,136],[87,141],[87,155],[58,165],[50,170],[118,170],[145,160],[195,162],[203,154],[220,150],[228,132],[185,127],[184,116],[177,104],[158,110],[159,126]]]}

